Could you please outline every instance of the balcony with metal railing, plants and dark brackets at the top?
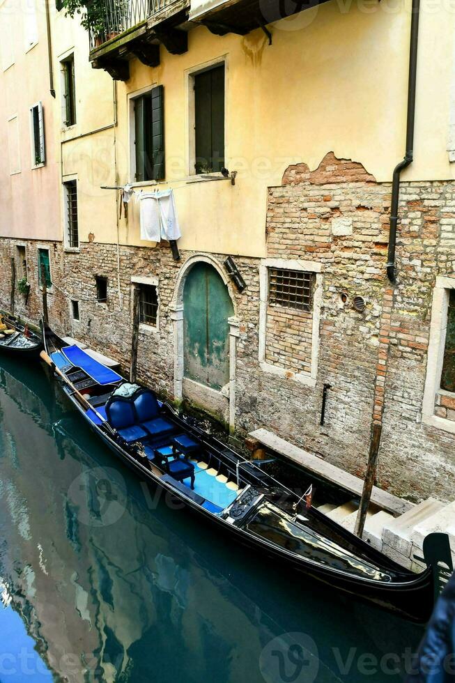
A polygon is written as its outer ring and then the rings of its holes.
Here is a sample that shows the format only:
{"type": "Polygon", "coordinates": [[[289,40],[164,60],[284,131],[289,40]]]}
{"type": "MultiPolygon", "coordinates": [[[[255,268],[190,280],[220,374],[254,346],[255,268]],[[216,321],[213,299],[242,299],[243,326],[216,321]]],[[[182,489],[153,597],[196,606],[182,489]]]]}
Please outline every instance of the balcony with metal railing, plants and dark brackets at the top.
{"type": "Polygon", "coordinates": [[[126,81],[133,57],[146,66],[160,64],[160,44],[183,54],[189,8],[190,0],[93,0],[87,6],[93,68],[126,81]]]}

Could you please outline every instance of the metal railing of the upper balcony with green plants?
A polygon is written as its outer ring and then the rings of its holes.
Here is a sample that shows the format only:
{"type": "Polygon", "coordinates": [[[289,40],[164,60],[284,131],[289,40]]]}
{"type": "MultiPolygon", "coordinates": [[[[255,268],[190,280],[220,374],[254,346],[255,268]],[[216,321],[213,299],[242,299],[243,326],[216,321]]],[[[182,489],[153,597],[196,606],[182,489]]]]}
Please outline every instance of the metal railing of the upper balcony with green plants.
{"type": "Polygon", "coordinates": [[[88,4],[90,49],[132,29],[176,0],[95,0],[88,4]]]}

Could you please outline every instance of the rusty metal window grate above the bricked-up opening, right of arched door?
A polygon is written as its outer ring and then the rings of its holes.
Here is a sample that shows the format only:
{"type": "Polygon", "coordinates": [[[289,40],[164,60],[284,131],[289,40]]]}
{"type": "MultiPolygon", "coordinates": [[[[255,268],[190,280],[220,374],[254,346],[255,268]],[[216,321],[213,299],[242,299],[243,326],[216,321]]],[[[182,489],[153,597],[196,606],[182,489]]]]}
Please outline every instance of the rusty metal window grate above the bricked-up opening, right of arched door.
{"type": "Polygon", "coordinates": [[[271,306],[311,311],[314,274],[302,270],[269,270],[269,303],[271,306]]]}

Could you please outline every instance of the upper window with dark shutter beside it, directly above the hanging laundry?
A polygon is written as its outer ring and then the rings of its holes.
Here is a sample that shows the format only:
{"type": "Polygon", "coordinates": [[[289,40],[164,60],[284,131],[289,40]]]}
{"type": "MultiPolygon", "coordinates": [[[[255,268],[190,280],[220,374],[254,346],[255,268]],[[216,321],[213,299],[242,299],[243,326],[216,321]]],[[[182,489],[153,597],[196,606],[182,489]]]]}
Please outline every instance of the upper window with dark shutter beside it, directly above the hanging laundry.
{"type": "Polygon", "coordinates": [[[134,179],[164,178],[164,89],[157,86],[134,98],[134,179]]]}

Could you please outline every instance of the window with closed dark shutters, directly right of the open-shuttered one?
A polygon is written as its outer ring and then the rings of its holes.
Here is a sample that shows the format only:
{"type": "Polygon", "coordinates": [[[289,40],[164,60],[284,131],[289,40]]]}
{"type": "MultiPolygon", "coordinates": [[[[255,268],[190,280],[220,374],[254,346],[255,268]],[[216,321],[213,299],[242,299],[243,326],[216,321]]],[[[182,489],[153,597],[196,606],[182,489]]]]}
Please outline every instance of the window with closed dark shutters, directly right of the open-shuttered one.
{"type": "Polygon", "coordinates": [[[194,76],[194,168],[196,173],[224,167],[224,64],[194,76]]]}

